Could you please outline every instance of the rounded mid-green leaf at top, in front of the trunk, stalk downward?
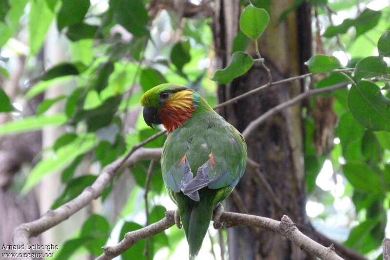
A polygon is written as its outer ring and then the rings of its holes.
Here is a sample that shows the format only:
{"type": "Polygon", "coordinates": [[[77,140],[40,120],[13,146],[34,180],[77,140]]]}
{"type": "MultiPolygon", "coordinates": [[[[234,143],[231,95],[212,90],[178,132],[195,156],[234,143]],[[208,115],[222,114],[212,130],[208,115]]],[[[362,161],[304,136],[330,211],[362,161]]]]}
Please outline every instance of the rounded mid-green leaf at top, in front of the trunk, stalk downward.
{"type": "Polygon", "coordinates": [[[270,16],[265,9],[250,4],[241,14],[240,29],[248,37],[257,40],[264,32],[269,21],[270,16]]]}

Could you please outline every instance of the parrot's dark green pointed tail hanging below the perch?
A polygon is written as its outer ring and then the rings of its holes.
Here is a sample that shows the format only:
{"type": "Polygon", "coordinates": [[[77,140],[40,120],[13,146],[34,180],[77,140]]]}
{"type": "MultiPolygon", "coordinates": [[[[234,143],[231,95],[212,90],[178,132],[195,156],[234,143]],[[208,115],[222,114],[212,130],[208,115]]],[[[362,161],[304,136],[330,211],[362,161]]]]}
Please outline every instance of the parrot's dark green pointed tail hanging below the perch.
{"type": "Polygon", "coordinates": [[[190,260],[195,259],[202,246],[213,215],[213,208],[213,202],[207,199],[187,204],[187,210],[179,207],[180,219],[190,248],[190,260]]]}

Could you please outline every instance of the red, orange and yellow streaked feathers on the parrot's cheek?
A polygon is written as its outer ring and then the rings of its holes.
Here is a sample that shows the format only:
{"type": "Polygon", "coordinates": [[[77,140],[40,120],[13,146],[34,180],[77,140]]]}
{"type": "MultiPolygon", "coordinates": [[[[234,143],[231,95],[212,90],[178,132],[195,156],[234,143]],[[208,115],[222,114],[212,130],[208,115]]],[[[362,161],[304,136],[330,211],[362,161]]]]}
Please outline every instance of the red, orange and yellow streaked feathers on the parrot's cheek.
{"type": "Polygon", "coordinates": [[[182,127],[183,121],[192,117],[197,107],[195,102],[199,102],[199,98],[194,91],[182,90],[174,93],[158,110],[158,117],[168,133],[173,132],[177,127],[182,127]]]}

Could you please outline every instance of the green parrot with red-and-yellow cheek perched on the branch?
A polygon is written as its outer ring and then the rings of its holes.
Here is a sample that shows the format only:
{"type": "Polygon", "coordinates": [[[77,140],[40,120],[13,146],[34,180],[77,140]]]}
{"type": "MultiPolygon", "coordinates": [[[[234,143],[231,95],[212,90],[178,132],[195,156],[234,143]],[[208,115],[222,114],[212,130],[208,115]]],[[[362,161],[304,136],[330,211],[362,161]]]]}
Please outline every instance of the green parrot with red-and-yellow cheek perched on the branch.
{"type": "Polygon", "coordinates": [[[149,126],[162,123],[167,129],[162,178],[179,209],[193,260],[215,204],[230,195],[244,174],[245,140],[198,93],[186,87],[158,85],[145,92],[141,105],[149,126]]]}

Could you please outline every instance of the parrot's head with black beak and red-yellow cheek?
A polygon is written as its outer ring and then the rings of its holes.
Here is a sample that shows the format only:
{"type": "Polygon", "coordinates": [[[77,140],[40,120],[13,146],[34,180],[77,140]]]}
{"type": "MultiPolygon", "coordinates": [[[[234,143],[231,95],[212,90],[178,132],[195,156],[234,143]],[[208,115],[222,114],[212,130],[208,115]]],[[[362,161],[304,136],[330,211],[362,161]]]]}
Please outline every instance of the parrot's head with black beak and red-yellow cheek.
{"type": "Polygon", "coordinates": [[[163,124],[168,132],[182,127],[200,102],[195,91],[174,84],[161,84],[149,89],[141,98],[143,118],[147,125],[163,124]]]}

